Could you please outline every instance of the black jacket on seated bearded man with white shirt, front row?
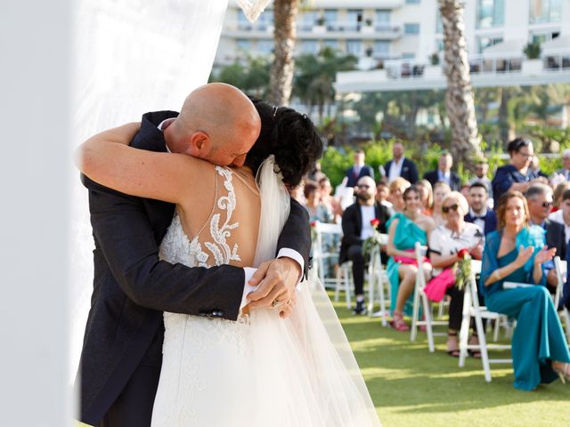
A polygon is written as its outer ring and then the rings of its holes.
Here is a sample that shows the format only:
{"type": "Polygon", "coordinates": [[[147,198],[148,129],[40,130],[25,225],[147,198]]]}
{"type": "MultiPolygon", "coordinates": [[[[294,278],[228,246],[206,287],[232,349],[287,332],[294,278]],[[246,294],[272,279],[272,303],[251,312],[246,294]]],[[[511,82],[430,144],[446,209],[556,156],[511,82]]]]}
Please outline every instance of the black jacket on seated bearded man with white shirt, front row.
{"type": "MultiPolygon", "coordinates": [[[[380,205],[378,202],[374,205],[376,218],[380,224],[378,230],[380,233],[387,233],[386,222],[390,218],[388,208],[380,205]]],[[[342,241],[340,243],[340,254],[338,254],[338,263],[342,264],[348,260],[348,248],[353,245],[362,245],[363,240],[360,238],[362,232],[362,213],[358,202],[346,208],[342,214],[342,241]]]]}

